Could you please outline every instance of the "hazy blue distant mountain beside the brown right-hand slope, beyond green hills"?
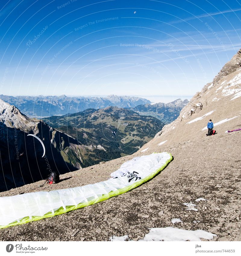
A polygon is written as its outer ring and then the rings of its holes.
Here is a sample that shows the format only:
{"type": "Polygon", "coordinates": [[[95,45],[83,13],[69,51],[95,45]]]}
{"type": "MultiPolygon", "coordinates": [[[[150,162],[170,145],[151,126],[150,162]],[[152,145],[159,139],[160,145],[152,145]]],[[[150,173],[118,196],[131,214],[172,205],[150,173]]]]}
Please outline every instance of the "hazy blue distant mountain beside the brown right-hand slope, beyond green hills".
{"type": "Polygon", "coordinates": [[[150,115],[160,119],[165,124],[170,124],[176,120],[180,111],[189,103],[189,100],[177,99],[169,103],[155,103],[153,105],[147,103],[131,108],[140,115],[150,115]]]}

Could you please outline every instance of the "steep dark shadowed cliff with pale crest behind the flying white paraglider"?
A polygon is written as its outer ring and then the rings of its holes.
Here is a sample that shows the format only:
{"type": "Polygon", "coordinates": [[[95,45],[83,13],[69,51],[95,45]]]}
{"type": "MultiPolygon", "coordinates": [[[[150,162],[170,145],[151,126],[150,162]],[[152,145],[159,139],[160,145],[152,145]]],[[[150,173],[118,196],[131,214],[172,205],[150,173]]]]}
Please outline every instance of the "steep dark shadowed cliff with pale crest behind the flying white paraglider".
{"type": "Polygon", "coordinates": [[[77,140],[38,119],[28,118],[3,100],[0,100],[0,139],[1,191],[45,179],[51,170],[65,173],[81,168],[77,140]],[[40,142],[28,134],[35,134],[43,141],[45,157],[40,142]],[[71,160],[67,157],[70,148],[71,160]]]}

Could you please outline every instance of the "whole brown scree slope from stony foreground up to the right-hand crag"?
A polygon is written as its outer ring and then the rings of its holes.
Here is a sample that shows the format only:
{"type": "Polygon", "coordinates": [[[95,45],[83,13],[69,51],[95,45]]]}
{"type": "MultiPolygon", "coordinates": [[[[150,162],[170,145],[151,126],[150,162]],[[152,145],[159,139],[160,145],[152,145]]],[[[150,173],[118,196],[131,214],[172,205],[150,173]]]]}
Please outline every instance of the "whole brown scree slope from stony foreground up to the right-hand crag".
{"type": "MultiPolygon", "coordinates": [[[[5,191],[10,196],[76,187],[108,179],[135,156],[170,152],[173,161],[156,177],[125,194],[72,212],[0,230],[7,241],[108,241],[113,235],[139,240],[149,228],[202,229],[213,240],[241,241],[241,52],[191,99],[179,117],[130,156],[61,175],[69,178],[5,191]],[[212,119],[218,134],[206,136],[212,119]],[[146,150],[142,152],[143,150],[146,150]],[[197,200],[203,198],[203,200],[197,200]],[[196,210],[184,203],[192,202],[196,210]],[[172,223],[174,218],[182,222],[172,223]],[[53,232],[54,231],[54,232],[53,232]]],[[[205,240],[205,239],[202,239],[205,240]]]]}

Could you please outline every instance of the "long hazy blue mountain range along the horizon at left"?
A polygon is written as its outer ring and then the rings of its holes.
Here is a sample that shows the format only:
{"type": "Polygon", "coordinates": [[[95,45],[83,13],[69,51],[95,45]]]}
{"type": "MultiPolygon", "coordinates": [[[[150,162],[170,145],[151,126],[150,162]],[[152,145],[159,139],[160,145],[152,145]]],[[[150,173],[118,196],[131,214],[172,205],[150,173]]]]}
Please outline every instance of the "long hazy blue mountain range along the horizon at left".
{"type": "Polygon", "coordinates": [[[116,95],[109,95],[107,97],[68,97],[66,95],[14,97],[8,95],[0,95],[0,99],[16,106],[27,116],[36,118],[76,113],[89,108],[102,109],[108,106],[125,108],[151,103],[149,100],[139,97],[116,95]]]}

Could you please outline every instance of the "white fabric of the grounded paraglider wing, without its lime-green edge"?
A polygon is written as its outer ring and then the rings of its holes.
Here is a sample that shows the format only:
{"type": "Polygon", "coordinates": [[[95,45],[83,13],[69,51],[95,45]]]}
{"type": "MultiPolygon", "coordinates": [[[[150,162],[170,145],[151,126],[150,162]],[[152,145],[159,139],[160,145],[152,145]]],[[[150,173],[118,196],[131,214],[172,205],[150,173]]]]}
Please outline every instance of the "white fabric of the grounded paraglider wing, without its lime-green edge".
{"type": "Polygon", "coordinates": [[[113,178],[104,182],[50,192],[41,191],[0,197],[0,225],[8,225],[26,216],[43,216],[60,207],[65,209],[66,206],[87,202],[110,191],[127,187],[155,172],[170,158],[171,156],[166,152],[135,157],[123,163],[117,171],[111,173],[113,178]],[[136,172],[137,177],[130,180],[133,172],[136,172]]]}

